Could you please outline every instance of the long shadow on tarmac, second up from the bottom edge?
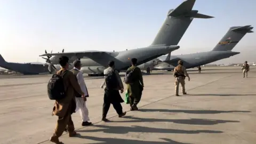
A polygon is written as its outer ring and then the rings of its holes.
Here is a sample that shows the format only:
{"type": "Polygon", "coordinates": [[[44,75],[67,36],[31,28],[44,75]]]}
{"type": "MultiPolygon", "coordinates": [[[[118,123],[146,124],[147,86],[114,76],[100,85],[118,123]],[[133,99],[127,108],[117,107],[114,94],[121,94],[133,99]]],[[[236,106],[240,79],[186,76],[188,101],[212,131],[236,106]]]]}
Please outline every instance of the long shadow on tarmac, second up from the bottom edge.
{"type": "Polygon", "coordinates": [[[211,130],[176,130],[176,129],[158,129],[145,126],[108,126],[108,125],[95,125],[95,127],[102,128],[98,130],[82,130],[82,132],[103,132],[113,134],[126,134],[129,132],[142,132],[142,133],[181,133],[181,134],[197,134],[197,133],[222,133],[222,131],[211,130]]]}

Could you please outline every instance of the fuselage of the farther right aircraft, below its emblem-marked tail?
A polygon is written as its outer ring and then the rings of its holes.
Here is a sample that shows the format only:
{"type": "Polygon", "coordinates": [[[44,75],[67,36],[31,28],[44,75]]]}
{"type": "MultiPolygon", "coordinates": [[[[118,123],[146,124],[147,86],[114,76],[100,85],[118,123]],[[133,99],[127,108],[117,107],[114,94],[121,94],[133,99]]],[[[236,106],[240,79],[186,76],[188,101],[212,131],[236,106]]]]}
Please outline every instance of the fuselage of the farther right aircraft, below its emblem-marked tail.
{"type": "Polygon", "coordinates": [[[232,51],[209,51],[209,52],[199,52],[183,55],[173,55],[170,60],[164,62],[169,63],[172,66],[178,65],[178,60],[183,61],[183,66],[186,68],[193,68],[221,59],[229,58],[233,55],[239,54],[240,52],[232,51]]]}

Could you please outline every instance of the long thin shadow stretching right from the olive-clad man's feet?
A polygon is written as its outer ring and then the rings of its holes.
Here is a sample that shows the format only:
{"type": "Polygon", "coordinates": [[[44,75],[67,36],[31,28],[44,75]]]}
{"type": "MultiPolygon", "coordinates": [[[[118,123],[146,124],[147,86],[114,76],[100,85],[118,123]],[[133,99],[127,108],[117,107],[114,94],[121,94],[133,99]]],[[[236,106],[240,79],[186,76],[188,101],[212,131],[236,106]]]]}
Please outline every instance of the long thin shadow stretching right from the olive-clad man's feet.
{"type": "Polygon", "coordinates": [[[140,109],[142,112],[169,112],[169,113],[186,113],[186,114],[220,114],[220,113],[250,113],[251,111],[240,110],[179,110],[179,109],[140,109]]]}

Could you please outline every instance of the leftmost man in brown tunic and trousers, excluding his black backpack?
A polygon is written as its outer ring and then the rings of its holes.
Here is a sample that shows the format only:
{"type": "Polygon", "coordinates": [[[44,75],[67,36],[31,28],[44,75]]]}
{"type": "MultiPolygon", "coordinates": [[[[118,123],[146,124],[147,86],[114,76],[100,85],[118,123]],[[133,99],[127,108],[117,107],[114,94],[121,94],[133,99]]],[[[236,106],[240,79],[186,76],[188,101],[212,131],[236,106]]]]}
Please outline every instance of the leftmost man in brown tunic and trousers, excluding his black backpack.
{"type": "Polygon", "coordinates": [[[52,111],[52,115],[58,116],[58,121],[50,141],[58,144],[62,143],[59,141],[59,137],[65,129],[67,129],[69,137],[76,135],[74,123],[71,118],[71,114],[75,113],[76,109],[74,92],[76,91],[84,97],[84,92],[82,92],[77,83],[76,76],[68,70],[68,60],[68,57],[61,57],[59,59],[61,69],[57,72],[57,75],[62,76],[66,97],[58,101],[56,100],[52,111]]]}

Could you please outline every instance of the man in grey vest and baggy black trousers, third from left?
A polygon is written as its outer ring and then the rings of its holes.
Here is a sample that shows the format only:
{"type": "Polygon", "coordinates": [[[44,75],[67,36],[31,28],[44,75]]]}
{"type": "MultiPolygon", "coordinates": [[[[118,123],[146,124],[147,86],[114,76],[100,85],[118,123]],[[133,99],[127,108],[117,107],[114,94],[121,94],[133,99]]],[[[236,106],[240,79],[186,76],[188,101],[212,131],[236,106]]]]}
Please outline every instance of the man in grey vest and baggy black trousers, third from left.
{"type": "Polygon", "coordinates": [[[126,112],[123,112],[121,105],[124,100],[119,93],[119,90],[121,93],[124,92],[124,85],[118,71],[115,69],[114,61],[108,62],[108,68],[103,73],[105,75],[105,81],[102,83],[101,88],[105,87],[105,93],[103,98],[102,121],[107,122],[109,120],[106,117],[111,103],[119,117],[126,114],[126,112]]]}

